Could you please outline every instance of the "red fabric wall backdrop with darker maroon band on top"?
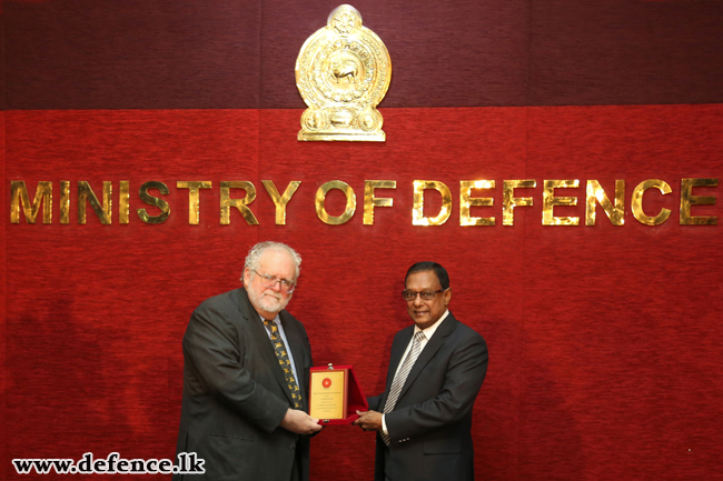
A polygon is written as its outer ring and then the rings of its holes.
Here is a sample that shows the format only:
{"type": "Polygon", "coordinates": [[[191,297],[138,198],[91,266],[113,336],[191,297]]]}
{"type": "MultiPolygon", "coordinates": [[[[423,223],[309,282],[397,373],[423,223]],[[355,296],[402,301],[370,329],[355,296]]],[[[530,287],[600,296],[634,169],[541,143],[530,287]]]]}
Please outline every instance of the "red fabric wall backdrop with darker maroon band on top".
{"type": "MultiPolygon", "coordinates": [[[[370,144],[296,141],[303,104],[293,62],[336,4],[9,2],[0,170],[7,478],[20,478],[13,458],[172,458],[188,317],[238,287],[246,251],[266,239],[304,257],[289,310],[304,321],[316,363],[354,364],[368,394],[383,388],[392,338],[410,322],[399,298],[405,270],[418,260],[447,267],[453,312],[491,352],[475,405],[478,479],[723,475],[721,228],[677,222],[681,179],[723,171],[720,22],[711,27],[720,3],[545,3],[356,4],[395,67],[382,109],[388,140],[370,144]],[[596,18],[607,27],[592,28],[596,18]],[[450,68],[439,69],[445,52],[450,68]],[[301,181],[286,226],[274,223],[267,179],[279,190],[301,181]],[[387,179],[397,189],[377,196],[394,207],[363,226],[364,181],[387,179]],[[478,179],[497,186],[494,206],[473,216],[497,226],[460,227],[458,182],[478,179]],[[506,179],[537,181],[517,192],[534,206],[517,208],[513,227],[502,226],[506,179]],[[598,207],[595,227],[543,227],[546,179],[581,180],[559,193],[576,196],[577,207],[555,208],[581,218],[587,179],[610,197],[624,179],[625,224],[613,227],[598,207]],[[642,226],[630,211],[646,179],[673,189],[645,197],[648,213],[673,211],[662,226],[642,226]],[[12,180],[31,196],[38,181],[53,181],[51,224],[10,223],[12,180]],[[58,222],[62,180],[72,186],[67,226],[58,222]],[[111,226],[90,209],[88,223],[77,223],[79,180],[97,194],[113,182],[111,226]],[[121,180],[131,186],[129,224],[118,222],[121,180]],[[171,216],[160,226],[135,214],[147,207],[137,192],[149,180],[170,190],[171,216]],[[179,180],[212,182],[201,191],[199,226],[188,224],[179,180]],[[256,186],[259,226],[237,211],[219,224],[222,180],[256,186]],[[357,196],[343,226],[324,224],[314,210],[329,180],[357,196]],[[413,180],[450,188],[444,226],[412,226],[413,180]]],[[[721,203],[693,213],[720,218],[721,203]]],[[[428,196],[428,212],[438,206],[428,196]]],[[[327,209],[340,213],[338,192],[327,209]]],[[[372,477],[370,433],[328,428],[311,449],[313,479],[372,477]]]]}

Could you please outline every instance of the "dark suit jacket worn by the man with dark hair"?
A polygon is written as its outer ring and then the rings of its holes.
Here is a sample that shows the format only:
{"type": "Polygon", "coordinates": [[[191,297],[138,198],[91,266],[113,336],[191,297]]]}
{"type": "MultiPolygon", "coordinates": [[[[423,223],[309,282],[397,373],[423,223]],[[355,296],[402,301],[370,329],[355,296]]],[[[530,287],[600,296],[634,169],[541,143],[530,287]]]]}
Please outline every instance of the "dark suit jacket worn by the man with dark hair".
{"type": "MultiPolygon", "coordinates": [[[[382,412],[414,334],[414,325],[397,332],[385,391],[369,398],[382,412]]],[[[474,481],[472,408],[487,371],[487,345],[452,312],[442,321],[415,362],[394,411],[385,415],[392,445],[377,435],[375,480],[474,481]]]]}

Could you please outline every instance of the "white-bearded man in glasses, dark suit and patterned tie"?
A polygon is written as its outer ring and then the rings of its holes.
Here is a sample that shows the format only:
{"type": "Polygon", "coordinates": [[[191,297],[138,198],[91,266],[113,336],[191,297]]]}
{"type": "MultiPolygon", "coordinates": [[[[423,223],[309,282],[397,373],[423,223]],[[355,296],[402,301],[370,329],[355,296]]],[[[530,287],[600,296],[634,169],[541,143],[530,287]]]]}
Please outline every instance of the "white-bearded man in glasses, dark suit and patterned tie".
{"type": "Polygon", "coordinates": [[[311,350],[284,310],[300,263],[290,247],[260,242],[246,258],[244,287],[194,311],[177,453],[197,453],[206,473],[188,479],[308,480],[308,435],[321,429],[306,413],[311,350]]]}

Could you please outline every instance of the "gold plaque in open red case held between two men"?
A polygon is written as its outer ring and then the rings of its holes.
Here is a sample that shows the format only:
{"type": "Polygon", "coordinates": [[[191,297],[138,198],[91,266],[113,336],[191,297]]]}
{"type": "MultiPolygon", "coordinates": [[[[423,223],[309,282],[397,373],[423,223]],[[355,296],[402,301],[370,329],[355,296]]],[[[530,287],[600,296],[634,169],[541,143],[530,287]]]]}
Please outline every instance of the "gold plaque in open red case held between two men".
{"type": "Polygon", "coordinates": [[[319,424],[350,424],[359,418],[357,410],[369,409],[353,365],[329,364],[309,373],[309,415],[319,424]]]}

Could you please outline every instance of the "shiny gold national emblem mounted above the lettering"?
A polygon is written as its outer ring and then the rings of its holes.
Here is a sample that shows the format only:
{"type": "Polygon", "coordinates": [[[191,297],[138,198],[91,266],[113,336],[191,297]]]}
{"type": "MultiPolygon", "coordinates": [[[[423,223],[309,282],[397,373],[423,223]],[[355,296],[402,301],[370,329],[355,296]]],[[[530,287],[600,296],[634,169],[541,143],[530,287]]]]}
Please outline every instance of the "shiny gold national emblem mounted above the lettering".
{"type": "Polygon", "coordinates": [[[308,109],[298,140],[384,142],[376,109],[389,88],[392,60],[361,14],[343,4],[309,37],[296,59],[296,87],[308,109]]]}

